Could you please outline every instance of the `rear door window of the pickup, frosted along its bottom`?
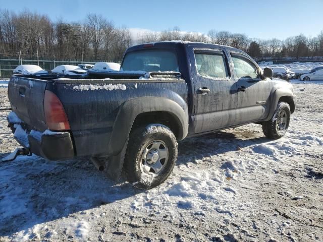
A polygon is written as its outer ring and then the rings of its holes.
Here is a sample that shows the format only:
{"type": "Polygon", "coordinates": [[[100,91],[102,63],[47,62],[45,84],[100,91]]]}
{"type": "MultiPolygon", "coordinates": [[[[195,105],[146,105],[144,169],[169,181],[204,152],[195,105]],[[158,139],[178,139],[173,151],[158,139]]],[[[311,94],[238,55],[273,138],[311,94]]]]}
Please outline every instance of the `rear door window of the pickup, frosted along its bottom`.
{"type": "Polygon", "coordinates": [[[223,54],[195,52],[197,73],[206,78],[229,78],[223,54]]]}

